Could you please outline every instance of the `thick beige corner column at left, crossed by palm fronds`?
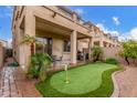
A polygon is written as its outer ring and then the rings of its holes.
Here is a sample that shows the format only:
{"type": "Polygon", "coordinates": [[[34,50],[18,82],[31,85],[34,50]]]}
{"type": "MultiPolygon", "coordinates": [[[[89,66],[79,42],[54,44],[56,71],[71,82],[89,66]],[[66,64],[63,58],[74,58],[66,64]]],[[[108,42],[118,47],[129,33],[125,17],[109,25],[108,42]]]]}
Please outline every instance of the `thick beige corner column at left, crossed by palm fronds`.
{"type": "MultiPolygon", "coordinates": [[[[27,14],[24,18],[24,35],[35,35],[35,17],[33,16],[32,11],[29,10],[30,7],[27,8],[27,14]]],[[[35,52],[35,45],[34,45],[34,52],[35,52]]],[[[24,56],[25,56],[25,69],[29,66],[29,60],[31,56],[31,47],[24,45],[24,56]]]]}

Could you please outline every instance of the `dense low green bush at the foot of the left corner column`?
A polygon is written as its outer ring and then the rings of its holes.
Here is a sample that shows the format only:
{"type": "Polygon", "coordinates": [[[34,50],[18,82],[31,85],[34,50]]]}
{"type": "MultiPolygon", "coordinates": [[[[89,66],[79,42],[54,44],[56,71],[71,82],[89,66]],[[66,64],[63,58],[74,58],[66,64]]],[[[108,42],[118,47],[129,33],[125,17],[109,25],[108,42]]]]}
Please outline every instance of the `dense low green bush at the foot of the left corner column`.
{"type": "Polygon", "coordinates": [[[51,64],[52,59],[48,53],[35,53],[31,56],[31,64],[28,71],[29,78],[38,79],[41,81],[46,79],[46,69],[51,64]]]}

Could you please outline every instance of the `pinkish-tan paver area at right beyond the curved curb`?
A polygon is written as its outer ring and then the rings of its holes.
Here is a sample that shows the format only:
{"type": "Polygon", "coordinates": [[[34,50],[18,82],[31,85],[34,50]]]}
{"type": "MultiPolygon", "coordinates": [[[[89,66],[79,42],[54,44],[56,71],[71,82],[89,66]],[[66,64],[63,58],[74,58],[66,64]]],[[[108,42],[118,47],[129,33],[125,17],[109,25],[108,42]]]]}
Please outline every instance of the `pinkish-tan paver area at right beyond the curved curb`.
{"type": "Polygon", "coordinates": [[[125,66],[115,79],[119,86],[119,97],[137,97],[137,68],[125,66]]]}

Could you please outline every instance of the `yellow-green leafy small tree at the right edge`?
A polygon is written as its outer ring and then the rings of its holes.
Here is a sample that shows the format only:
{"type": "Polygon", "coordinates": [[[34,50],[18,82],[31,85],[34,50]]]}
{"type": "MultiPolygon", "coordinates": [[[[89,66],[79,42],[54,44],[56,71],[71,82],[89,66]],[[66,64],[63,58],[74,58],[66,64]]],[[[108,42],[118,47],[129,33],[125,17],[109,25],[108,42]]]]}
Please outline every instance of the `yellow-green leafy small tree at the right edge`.
{"type": "Polygon", "coordinates": [[[127,64],[129,65],[130,62],[128,59],[137,59],[137,42],[136,41],[127,41],[123,42],[123,51],[120,51],[120,56],[125,59],[127,64]]]}

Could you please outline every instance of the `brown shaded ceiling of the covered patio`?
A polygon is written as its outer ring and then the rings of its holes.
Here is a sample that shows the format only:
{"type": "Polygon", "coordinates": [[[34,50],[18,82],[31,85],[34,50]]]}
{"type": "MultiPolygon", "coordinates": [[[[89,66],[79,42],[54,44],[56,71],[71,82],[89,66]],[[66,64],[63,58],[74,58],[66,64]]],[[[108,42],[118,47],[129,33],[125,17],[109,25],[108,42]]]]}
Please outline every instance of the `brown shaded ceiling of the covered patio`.
{"type": "MultiPolygon", "coordinates": [[[[36,34],[39,34],[39,37],[70,39],[73,31],[40,18],[36,18],[35,20],[36,34]]],[[[87,38],[87,35],[77,33],[77,39],[83,38],[87,38]]]]}

